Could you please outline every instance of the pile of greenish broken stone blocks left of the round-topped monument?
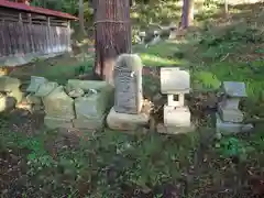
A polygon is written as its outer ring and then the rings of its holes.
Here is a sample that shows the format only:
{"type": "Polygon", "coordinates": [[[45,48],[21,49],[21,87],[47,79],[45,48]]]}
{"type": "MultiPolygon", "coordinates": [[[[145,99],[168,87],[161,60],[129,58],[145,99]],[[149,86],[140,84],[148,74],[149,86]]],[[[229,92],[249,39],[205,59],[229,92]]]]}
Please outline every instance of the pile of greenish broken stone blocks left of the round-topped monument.
{"type": "Polygon", "coordinates": [[[78,79],[69,79],[66,86],[61,86],[34,76],[26,91],[30,92],[28,98],[43,102],[47,128],[99,130],[103,127],[113,88],[106,81],[78,79]]]}

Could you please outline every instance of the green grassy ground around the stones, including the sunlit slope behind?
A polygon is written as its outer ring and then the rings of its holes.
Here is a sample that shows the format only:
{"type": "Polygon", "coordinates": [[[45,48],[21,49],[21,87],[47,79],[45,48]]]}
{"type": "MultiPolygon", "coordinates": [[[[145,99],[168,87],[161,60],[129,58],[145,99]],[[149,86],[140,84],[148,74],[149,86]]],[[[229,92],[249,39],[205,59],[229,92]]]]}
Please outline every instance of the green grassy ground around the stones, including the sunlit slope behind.
{"type": "MultiPolygon", "coordinates": [[[[143,86],[150,98],[160,92],[153,70],[180,66],[190,70],[191,88],[197,91],[218,90],[223,80],[244,81],[249,95],[244,110],[264,117],[263,4],[233,10],[228,19],[217,13],[204,16],[202,26],[177,42],[134,46],[147,66],[143,86]]],[[[77,78],[80,67],[89,72],[92,56],[85,52],[78,57],[37,61],[11,76],[36,75],[65,82],[77,78]]],[[[219,140],[208,125],[175,136],[107,130],[79,138],[78,131],[46,130],[40,127],[41,117],[29,117],[1,116],[1,197],[264,196],[263,123],[256,123],[251,133],[219,140]]]]}

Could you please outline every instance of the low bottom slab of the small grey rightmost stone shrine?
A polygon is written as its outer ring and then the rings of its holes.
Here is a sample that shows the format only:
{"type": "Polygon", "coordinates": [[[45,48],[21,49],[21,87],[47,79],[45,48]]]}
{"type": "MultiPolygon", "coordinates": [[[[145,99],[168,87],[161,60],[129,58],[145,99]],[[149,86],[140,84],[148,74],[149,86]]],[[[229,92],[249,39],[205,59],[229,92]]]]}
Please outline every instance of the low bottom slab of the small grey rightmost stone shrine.
{"type": "Polygon", "coordinates": [[[232,134],[239,132],[248,132],[253,129],[252,124],[224,122],[221,120],[218,113],[216,117],[217,117],[216,128],[218,133],[232,134]]]}

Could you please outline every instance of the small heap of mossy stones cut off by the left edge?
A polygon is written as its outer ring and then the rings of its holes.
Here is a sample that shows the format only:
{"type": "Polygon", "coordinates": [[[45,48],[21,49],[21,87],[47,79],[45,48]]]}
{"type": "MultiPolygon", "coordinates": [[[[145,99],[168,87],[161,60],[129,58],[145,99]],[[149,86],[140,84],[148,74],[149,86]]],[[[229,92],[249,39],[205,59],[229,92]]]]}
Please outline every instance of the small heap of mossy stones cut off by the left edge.
{"type": "Polygon", "coordinates": [[[20,90],[21,81],[18,78],[0,76],[0,112],[15,108],[24,94],[20,90]]]}

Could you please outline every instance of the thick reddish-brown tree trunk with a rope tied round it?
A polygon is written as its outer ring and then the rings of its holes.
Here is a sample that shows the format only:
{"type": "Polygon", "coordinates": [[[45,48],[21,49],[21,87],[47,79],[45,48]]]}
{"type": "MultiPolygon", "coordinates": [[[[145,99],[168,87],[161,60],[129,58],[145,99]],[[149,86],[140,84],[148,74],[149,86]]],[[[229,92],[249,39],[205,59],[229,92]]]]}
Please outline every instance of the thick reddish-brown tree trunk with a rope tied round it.
{"type": "Polygon", "coordinates": [[[114,61],[131,53],[130,0],[96,1],[96,63],[94,72],[113,84],[114,61]]]}

